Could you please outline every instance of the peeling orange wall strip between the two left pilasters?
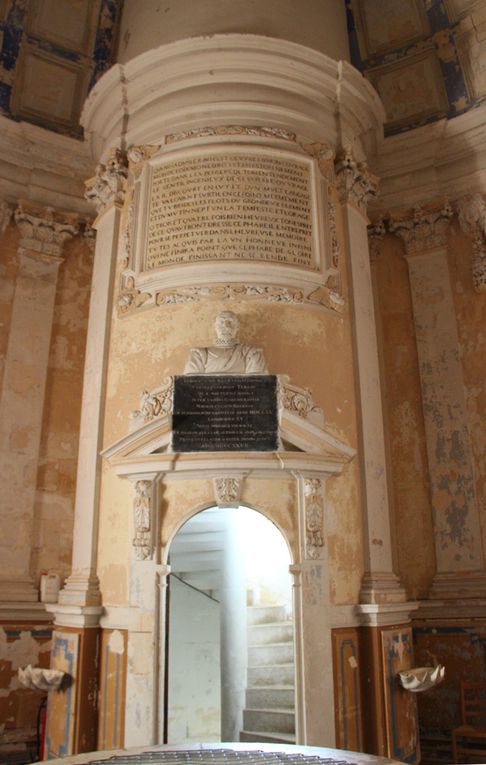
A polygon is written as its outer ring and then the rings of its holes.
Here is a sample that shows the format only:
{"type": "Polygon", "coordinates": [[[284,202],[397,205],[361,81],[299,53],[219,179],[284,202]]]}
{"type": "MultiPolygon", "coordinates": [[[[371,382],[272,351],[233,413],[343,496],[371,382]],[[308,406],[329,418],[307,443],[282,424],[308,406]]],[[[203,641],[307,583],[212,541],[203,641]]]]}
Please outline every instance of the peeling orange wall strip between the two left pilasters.
{"type": "Polygon", "coordinates": [[[79,237],[59,270],[44,401],[34,511],[36,576],[71,570],[84,352],[93,256],[79,237]]]}

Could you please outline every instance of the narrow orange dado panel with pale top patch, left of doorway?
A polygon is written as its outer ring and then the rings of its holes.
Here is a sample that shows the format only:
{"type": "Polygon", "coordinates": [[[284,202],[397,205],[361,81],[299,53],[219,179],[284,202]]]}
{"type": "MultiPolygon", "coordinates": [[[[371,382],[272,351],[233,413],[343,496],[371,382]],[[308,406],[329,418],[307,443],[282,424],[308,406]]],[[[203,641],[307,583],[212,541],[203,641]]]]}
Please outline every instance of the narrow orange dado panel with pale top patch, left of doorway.
{"type": "Polygon", "coordinates": [[[103,630],[101,635],[98,749],[120,749],[125,735],[127,633],[103,630]]]}

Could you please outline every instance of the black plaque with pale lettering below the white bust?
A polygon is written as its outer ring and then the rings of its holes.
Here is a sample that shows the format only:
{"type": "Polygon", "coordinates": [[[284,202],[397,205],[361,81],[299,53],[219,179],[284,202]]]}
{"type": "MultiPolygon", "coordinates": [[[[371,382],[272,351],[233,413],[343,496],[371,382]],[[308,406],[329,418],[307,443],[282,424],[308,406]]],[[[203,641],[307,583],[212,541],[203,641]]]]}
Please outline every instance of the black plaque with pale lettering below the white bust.
{"type": "Polygon", "coordinates": [[[278,448],[275,375],[174,377],[175,452],[269,452],[278,448]]]}

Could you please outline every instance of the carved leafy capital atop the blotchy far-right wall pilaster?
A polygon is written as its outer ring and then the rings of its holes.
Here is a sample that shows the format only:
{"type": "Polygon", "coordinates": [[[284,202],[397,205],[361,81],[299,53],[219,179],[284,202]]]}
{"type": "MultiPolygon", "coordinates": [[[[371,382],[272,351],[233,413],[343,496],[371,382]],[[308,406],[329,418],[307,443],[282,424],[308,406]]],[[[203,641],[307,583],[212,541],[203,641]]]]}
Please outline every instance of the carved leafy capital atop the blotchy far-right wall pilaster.
{"type": "Polygon", "coordinates": [[[411,215],[392,215],[388,230],[404,242],[407,255],[435,250],[446,246],[447,230],[453,214],[447,201],[432,210],[415,207],[411,215]]]}

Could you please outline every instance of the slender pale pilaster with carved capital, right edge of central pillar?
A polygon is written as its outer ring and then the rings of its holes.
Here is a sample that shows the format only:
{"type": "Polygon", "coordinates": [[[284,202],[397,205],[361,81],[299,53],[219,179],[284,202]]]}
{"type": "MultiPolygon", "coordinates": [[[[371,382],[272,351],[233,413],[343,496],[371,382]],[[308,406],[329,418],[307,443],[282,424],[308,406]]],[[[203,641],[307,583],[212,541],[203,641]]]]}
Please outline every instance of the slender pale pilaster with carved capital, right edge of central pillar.
{"type": "Polygon", "coordinates": [[[359,404],[363,549],[362,603],[403,602],[405,591],[393,571],[386,447],[378,343],[368,252],[366,204],[377,179],[348,149],[336,162],[350,270],[357,399],[359,404]]]}

